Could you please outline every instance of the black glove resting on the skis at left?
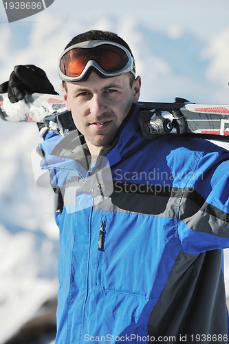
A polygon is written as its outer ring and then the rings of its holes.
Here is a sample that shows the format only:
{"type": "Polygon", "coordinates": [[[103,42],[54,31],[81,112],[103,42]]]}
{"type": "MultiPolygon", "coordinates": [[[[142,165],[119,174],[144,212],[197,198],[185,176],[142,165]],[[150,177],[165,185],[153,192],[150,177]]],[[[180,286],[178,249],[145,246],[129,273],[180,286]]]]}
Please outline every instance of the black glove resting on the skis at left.
{"type": "Polygon", "coordinates": [[[43,69],[35,65],[17,65],[10,80],[0,85],[0,93],[8,93],[11,103],[25,98],[26,93],[58,94],[43,69]]]}

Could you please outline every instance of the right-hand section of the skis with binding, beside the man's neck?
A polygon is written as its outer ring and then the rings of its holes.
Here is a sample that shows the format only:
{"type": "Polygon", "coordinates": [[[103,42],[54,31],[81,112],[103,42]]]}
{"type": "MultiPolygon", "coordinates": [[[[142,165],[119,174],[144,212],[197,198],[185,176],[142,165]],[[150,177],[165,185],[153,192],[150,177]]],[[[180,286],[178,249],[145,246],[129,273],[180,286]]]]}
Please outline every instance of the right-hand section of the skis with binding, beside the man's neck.
{"type": "Polygon", "coordinates": [[[229,140],[229,105],[195,104],[183,98],[175,98],[175,103],[138,105],[138,120],[147,140],[166,134],[229,140]]]}

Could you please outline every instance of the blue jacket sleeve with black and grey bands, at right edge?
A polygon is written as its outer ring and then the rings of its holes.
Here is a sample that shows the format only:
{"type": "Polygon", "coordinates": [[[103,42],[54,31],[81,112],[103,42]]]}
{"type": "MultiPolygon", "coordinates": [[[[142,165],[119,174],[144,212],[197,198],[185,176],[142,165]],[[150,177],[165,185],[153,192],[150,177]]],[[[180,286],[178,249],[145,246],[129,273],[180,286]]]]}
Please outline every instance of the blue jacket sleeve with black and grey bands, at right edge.
{"type": "Polygon", "coordinates": [[[202,153],[179,203],[182,249],[199,253],[229,247],[229,152],[202,153]]]}

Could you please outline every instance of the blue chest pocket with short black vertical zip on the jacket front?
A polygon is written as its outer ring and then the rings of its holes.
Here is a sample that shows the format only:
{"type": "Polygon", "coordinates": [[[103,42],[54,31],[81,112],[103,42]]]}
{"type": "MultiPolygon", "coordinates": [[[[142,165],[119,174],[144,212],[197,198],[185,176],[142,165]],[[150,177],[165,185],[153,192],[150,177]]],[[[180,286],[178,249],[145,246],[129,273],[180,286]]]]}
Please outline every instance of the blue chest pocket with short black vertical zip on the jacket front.
{"type": "Polygon", "coordinates": [[[93,288],[151,297],[163,260],[162,222],[160,217],[133,213],[102,215],[91,237],[91,244],[96,243],[91,246],[93,288]]]}

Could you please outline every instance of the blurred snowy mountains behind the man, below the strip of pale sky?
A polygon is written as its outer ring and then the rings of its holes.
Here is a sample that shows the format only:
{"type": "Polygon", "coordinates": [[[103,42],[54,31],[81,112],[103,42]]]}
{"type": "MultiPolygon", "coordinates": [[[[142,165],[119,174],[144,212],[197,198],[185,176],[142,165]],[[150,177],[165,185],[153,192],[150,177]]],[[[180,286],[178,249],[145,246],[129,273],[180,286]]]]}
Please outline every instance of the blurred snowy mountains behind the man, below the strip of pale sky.
{"type": "MultiPolygon", "coordinates": [[[[141,100],[173,101],[181,96],[197,103],[228,103],[228,30],[204,39],[169,25],[156,30],[136,19],[95,17],[66,25],[66,18],[43,12],[42,25],[31,21],[21,31],[17,25],[0,25],[0,83],[8,80],[14,65],[33,63],[60,92],[56,61],[61,50],[76,33],[101,28],[118,32],[131,45],[142,75],[141,100]]],[[[30,158],[38,142],[36,125],[0,120],[0,344],[58,288],[53,194],[36,186],[30,158]]],[[[227,286],[228,266],[227,251],[227,286]]]]}

